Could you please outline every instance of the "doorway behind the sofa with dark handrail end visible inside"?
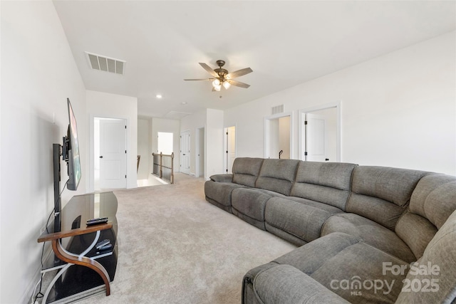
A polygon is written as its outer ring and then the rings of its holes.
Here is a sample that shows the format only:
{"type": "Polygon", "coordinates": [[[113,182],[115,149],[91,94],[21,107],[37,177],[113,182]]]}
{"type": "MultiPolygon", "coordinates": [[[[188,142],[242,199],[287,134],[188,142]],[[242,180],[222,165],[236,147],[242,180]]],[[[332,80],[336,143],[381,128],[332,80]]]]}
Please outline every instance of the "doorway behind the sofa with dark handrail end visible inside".
{"type": "Polygon", "coordinates": [[[292,126],[292,113],[280,113],[264,118],[264,158],[294,157],[292,126]]]}

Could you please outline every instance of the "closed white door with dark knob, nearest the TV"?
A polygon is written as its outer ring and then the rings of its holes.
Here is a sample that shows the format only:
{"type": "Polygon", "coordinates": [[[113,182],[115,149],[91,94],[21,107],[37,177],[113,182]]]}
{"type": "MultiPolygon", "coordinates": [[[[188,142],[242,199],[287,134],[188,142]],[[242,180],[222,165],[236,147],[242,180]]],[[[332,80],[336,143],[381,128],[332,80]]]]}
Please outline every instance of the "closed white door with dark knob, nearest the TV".
{"type": "Polygon", "coordinates": [[[125,120],[100,120],[100,189],[127,187],[125,120]]]}

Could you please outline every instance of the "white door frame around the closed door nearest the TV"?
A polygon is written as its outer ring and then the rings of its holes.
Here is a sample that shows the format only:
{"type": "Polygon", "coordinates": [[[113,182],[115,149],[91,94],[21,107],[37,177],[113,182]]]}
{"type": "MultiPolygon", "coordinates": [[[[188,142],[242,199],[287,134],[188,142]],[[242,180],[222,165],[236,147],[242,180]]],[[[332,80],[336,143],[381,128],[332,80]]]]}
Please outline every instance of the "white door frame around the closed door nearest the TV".
{"type": "MultiPolygon", "coordinates": [[[[128,129],[130,128],[130,119],[126,116],[119,116],[119,117],[106,117],[105,115],[95,115],[95,114],[90,114],[89,118],[89,159],[88,159],[88,171],[89,173],[86,174],[86,177],[88,177],[88,192],[95,192],[95,118],[100,118],[100,119],[116,119],[116,120],[125,120],[125,124],[127,125],[127,132],[125,132],[125,147],[127,148],[127,179],[125,182],[125,189],[128,188],[128,181],[130,180],[131,177],[129,177],[128,174],[128,159],[130,159],[130,149],[129,143],[130,143],[130,137],[128,136],[128,129]]],[[[135,156],[136,158],[136,156],[135,156]]],[[[136,169],[135,169],[136,170],[136,169]]],[[[84,173],[83,173],[84,174],[84,173]]],[[[136,176],[135,176],[136,180],[136,176]]]]}

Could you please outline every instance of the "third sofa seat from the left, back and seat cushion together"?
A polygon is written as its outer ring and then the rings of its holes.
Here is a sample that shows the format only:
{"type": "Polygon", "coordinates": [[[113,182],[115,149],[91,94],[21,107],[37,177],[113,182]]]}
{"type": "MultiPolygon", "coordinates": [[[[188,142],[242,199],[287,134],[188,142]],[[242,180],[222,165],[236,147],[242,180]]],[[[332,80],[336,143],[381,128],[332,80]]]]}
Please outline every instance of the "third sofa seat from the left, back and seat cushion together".
{"type": "Polygon", "coordinates": [[[266,230],[297,246],[318,239],[325,221],[346,211],[356,164],[300,161],[290,196],[266,204],[266,230]]]}

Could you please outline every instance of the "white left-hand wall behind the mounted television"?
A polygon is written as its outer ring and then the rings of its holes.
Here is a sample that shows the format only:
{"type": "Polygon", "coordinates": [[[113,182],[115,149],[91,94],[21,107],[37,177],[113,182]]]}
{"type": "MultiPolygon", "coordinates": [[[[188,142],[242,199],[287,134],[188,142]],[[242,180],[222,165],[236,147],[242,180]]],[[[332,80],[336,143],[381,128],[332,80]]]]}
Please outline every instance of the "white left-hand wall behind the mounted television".
{"type": "Polygon", "coordinates": [[[41,269],[36,240],[53,209],[52,144],[66,135],[66,98],[83,176],[63,204],[88,182],[86,89],[51,1],[1,1],[1,74],[0,303],[25,303],[41,269]]]}

